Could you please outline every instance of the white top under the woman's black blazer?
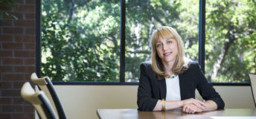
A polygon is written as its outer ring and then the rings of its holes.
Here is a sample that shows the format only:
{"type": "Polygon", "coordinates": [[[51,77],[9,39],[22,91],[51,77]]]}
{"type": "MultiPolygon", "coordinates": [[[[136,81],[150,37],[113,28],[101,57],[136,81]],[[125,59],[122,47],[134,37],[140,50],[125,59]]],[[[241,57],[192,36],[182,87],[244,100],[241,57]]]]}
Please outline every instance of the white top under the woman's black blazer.
{"type": "Polygon", "coordinates": [[[166,99],[165,100],[181,100],[179,89],[179,75],[173,78],[165,78],[166,82],[166,99]]]}

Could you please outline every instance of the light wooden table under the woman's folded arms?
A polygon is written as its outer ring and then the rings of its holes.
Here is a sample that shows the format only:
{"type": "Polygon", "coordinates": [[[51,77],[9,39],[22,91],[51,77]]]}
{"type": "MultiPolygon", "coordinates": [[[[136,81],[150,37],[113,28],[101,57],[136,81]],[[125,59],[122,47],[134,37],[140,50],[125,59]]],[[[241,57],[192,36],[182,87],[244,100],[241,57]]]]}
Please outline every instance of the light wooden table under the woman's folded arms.
{"type": "Polygon", "coordinates": [[[182,113],[182,109],[167,112],[138,112],[137,109],[97,109],[100,119],[256,119],[256,109],[224,109],[196,114],[182,113]]]}

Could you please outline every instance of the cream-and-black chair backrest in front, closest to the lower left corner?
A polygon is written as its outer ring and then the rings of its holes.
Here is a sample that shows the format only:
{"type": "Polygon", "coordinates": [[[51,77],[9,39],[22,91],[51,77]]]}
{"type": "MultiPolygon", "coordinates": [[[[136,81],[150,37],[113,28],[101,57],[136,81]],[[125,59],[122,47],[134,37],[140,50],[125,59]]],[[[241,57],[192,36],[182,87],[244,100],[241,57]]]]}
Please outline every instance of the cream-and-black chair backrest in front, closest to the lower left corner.
{"type": "Polygon", "coordinates": [[[57,115],[43,91],[34,91],[30,83],[24,83],[21,90],[22,97],[32,103],[42,119],[57,119],[57,115]]]}

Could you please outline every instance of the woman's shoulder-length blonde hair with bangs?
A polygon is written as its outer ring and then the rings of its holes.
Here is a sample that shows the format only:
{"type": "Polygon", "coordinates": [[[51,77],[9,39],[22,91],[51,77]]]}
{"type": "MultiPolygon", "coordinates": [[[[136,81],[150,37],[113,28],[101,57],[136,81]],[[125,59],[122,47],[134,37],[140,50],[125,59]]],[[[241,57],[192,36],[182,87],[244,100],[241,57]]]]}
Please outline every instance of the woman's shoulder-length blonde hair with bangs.
{"type": "Polygon", "coordinates": [[[178,54],[176,61],[173,65],[172,71],[173,74],[181,74],[183,71],[188,69],[188,61],[185,58],[184,53],[184,45],[182,42],[182,38],[179,36],[179,33],[174,28],[162,26],[153,32],[151,37],[151,45],[152,45],[152,54],[151,54],[151,63],[153,71],[156,72],[158,78],[161,79],[163,77],[170,77],[167,74],[167,71],[164,71],[164,65],[161,62],[160,57],[156,51],[156,42],[159,39],[175,39],[177,42],[178,54]]]}

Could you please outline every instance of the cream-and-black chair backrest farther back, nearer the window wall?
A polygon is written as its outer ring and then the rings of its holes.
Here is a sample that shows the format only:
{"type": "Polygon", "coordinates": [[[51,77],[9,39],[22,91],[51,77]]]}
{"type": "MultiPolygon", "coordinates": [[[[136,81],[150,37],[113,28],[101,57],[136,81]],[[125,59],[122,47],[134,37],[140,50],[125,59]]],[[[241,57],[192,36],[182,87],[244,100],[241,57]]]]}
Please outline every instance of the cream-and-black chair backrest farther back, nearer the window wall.
{"type": "Polygon", "coordinates": [[[33,83],[36,83],[39,86],[39,89],[44,91],[46,96],[51,102],[51,105],[54,106],[54,111],[58,114],[57,118],[66,119],[63,106],[60,103],[59,97],[57,96],[54,86],[49,80],[49,77],[37,77],[36,73],[31,74],[31,80],[33,83]]]}

